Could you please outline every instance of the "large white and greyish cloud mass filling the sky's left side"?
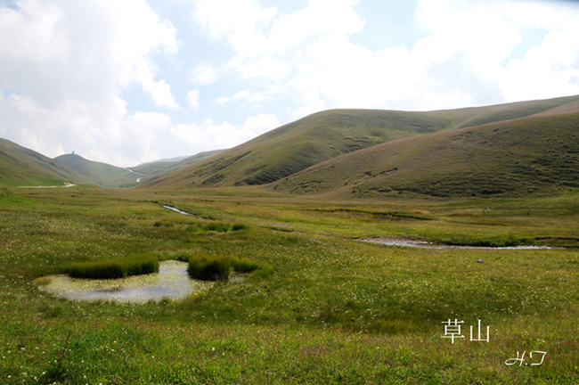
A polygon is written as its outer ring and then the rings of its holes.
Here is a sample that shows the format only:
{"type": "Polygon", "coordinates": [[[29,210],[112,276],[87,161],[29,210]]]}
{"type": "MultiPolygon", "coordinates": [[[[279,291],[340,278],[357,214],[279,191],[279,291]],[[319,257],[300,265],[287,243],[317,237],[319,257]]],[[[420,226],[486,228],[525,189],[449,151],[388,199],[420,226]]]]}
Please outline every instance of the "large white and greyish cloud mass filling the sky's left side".
{"type": "Polygon", "coordinates": [[[0,7],[0,134],[51,157],[75,150],[115,164],[149,159],[170,118],[128,114],[120,95],[140,85],[155,105],[178,108],[152,60],[176,52],[171,23],[144,0],[16,4],[0,7]]]}

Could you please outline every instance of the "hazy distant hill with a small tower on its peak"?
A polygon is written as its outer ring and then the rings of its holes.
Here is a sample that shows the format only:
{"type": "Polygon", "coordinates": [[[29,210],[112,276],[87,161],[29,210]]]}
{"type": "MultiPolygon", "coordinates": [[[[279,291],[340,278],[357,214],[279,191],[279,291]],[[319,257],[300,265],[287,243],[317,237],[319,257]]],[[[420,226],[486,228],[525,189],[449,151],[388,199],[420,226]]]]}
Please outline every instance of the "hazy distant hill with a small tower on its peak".
{"type": "Polygon", "coordinates": [[[125,168],[118,168],[110,164],[86,160],[77,154],[65,154],[54,158],[62,164],[76,170],[90,178],[94,184],[104,188],[128,187],[136,183],[140,177],[125,168]]]}

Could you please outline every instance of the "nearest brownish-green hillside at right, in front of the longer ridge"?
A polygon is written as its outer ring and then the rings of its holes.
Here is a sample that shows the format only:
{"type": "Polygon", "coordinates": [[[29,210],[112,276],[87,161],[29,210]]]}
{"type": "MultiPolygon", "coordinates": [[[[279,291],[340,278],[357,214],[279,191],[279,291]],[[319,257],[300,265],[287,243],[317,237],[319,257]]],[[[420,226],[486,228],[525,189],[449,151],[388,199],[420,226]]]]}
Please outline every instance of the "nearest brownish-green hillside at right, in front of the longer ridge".
{"type": "Polygon", "coordinates": [[[383,143],[273,184],[287,193],[523,196],[579,187],[579,113],[383,143]]]}

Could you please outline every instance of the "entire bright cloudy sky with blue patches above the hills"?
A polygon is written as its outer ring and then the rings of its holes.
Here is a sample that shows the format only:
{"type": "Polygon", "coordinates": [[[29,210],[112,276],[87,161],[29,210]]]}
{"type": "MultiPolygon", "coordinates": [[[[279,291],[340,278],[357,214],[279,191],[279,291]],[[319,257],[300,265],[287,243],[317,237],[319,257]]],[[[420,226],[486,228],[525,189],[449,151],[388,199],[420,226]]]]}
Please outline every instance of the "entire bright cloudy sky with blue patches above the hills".
{"type": "Polygon", "coordinates": [[[130,167],[336,108],[579,94],[579,2],[0,0],[0,137],[130,167]]]}

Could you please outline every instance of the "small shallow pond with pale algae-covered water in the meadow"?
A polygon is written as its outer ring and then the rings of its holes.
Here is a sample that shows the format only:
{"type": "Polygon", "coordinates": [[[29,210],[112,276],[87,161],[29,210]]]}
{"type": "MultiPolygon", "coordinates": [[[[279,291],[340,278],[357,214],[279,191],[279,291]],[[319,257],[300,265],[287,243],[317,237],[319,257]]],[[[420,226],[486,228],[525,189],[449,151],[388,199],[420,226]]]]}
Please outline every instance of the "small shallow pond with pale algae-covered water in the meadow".
{"type": "Polygon", "coordinates": [[[213,284],[192,280],[187,274],[187,263],[178,261],[161,262],[159,273],[121,279],[90,280],[70,278],[68,275],[51,275],[48,278],[51,282],[40,289],[65,299],[122,302],[183,299],[193,291],[207,290],[213,284]]]}

